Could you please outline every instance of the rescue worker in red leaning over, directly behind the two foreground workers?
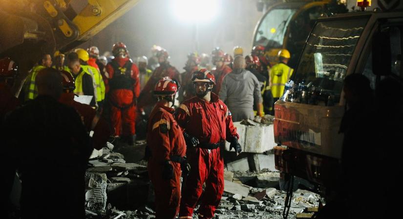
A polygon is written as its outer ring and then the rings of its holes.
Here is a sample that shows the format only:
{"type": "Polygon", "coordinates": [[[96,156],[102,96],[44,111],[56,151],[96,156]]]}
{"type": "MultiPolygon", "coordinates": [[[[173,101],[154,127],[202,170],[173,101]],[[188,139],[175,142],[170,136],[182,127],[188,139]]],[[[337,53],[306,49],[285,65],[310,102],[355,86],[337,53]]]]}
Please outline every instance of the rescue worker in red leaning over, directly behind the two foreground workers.
{"type": "Polygon", "coordinates": [[[177,79],[179,77],[179,72],[175,67],[171,66],[168,58],[168,52],[165,49],[159,50],[156,54],[158,58],[158,62],[160,66],[154,70],[151,74],[151,77],[148,79],[146,86],[144,86],[141,91],[138,108],[140,111],[146,112],[148,114],[152,107],[155,105],[156,100],[152,97],[152,91],[154,89],[155,84],[164,77],[170,77],[172,79],[177,79]]]}

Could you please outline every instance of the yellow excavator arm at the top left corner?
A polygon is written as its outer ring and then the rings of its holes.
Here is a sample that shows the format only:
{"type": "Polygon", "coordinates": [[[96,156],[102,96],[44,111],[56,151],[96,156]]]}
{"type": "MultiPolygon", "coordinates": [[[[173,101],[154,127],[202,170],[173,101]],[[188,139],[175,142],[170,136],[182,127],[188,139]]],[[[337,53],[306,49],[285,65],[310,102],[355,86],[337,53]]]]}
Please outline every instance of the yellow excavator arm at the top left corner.
{"type": "Polygon", "coordinates": [[[19,63],[21,82],[38,57],[80,45],[138,1],[0,0],[0,57],[19,63]]]}

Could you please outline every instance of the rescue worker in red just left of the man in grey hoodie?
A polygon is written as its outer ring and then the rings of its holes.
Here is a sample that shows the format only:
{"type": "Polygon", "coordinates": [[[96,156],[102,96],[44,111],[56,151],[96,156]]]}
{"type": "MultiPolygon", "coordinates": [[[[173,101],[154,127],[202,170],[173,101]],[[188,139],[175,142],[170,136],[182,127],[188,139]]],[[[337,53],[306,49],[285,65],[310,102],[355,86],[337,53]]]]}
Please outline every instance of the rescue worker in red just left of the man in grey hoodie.
{"type": "Polygon", "coordinates": [[[222,80],[225,75],[232,72],[233,70],[224,64],[225,54],[220,48],[215,48],[212,51],[212,63],[215,65],[215,70],[212,71],[212,74],[217,79],[216,84],[214,86],[214,93],[219,93],[221,89],[222,80]]]}

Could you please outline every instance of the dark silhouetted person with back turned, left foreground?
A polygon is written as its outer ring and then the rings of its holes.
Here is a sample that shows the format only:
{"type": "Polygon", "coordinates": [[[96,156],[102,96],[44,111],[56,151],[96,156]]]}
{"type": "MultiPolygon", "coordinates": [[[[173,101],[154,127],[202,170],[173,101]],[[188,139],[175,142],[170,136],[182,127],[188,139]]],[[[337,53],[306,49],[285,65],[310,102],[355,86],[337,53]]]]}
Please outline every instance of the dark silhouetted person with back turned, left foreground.
{"type": "Polygon", "coordinates": [[[57,70],[41,70],[39,95],[5,121],[3,168],[21,175],[23,219],[85,218],[84,174],[92,147],[77,112],[57,101],[61,80],[57,70]]]}

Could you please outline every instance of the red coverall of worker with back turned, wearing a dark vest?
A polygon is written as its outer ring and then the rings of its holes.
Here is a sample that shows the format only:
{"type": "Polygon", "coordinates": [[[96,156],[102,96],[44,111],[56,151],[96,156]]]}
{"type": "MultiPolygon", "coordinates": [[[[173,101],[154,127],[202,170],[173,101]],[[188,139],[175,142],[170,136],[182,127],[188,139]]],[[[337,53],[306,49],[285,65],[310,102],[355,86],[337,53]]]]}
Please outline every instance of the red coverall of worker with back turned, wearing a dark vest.
{"type": "MultiPolygon", "coordinates": [[[[112,60],[116,62],[121,69],[125,68],[127,62],[131,62],[128,57],[119,58],[116,57],[112,60]]],[[[129,70],[127,70],[129,71],[129,70]]],[[[110,83],[115,76],[115,70],[112,67],[112,63],[106,65],[106,72],[108,73],[108,83],[106,83],[106,93],[111,105],[110,120],[112,126],[115,128],[115,136],[132,136],[135,132],[135,120],[136,120],[136,104],[135,100],[140,94],[140,82],[139,82],[139,69],[137,65],[132,63],[130,69],[130,77],[134,80],[132,89],[114,89],[110,90],[110,83]],[[122,132],[121,132],[122,127],[122,132]]],[[[121,74],[117,72],[116,74],[121,74]]]]}

